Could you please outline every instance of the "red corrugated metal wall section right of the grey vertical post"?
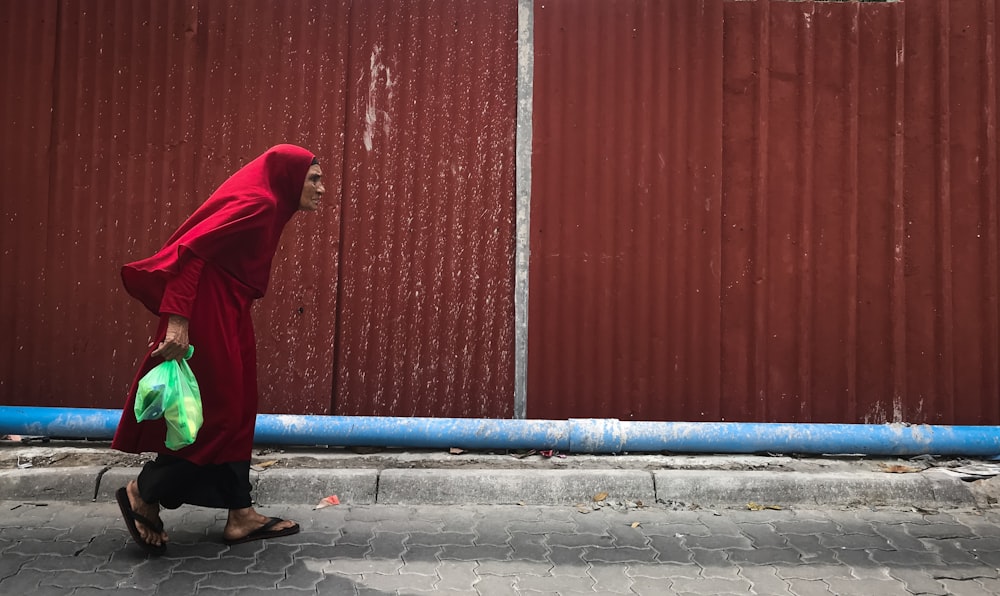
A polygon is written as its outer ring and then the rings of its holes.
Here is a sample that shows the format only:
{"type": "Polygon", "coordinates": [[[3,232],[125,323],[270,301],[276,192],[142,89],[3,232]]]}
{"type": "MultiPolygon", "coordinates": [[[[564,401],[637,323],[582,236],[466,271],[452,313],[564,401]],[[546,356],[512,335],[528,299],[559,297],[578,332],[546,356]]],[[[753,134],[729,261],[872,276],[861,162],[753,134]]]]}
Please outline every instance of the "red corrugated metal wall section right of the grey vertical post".
{"type": "Polygon", "coordinates": [[[529,416],[1000,422],[996,9],[536,3],[529,416]]]}

